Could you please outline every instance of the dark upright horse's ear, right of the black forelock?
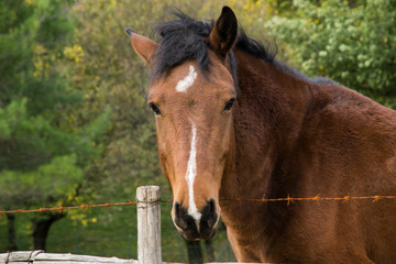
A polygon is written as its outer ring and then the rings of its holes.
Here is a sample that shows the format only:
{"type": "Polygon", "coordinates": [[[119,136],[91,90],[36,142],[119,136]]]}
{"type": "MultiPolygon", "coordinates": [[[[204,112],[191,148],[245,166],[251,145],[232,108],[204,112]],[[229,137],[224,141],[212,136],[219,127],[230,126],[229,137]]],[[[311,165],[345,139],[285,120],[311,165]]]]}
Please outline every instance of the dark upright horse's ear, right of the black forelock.
{"type": "Polygon", "coordinates": [[[229,7],[223,7],[220,18],[209,35],[210,45],[220,57],[226,57],[235,43],[238,22],[234,12],[229,7]]]}

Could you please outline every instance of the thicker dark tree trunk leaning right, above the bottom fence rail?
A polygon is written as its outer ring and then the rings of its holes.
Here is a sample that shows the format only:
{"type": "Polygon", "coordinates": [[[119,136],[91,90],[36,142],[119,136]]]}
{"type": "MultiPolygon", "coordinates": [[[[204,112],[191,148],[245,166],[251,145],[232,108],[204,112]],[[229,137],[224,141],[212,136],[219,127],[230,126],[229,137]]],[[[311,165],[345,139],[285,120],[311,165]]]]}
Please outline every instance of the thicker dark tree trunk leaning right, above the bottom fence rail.
{"type": "Polygon", "coordinates": [[[47,219],[33,219],[33,249],[44,250],[51,226],[65,217],[64,213],[50,215],[47,219]]]}

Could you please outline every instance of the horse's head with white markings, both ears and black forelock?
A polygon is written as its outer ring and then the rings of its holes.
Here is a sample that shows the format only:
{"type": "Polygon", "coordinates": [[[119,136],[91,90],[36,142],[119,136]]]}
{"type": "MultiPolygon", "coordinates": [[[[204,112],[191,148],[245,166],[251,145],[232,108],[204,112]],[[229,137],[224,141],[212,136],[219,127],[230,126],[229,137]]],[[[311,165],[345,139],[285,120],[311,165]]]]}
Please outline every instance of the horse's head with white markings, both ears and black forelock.
{"type": "Polygon", "coordinates": [[[188,18],[165,23],[160,44],[128,33],[153,70],[148,105],[162,169],[174,194],[174,223],[188,240],[209,239],[216,233],[219,190],[233,153],[237,90],[230,52],[237,18],[223,8],[215,24],[188,18]]]}

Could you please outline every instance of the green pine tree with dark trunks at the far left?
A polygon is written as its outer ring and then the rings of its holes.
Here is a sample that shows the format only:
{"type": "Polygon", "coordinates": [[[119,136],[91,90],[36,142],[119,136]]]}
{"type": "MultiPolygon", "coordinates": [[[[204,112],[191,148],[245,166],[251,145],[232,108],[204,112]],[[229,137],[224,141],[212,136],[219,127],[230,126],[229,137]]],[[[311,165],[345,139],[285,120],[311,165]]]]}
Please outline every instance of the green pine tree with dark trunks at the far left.
{"type": "MultiPolygon", "coordinates": [[[[0,208],[81,201],[85,172],[102,152],[110,109],[90,122],[69,122],[81,94],[69,86],[64,48],[74,24],[72,1],[0,3],[0,208]]],[[[44,249],[51,224],[64,212],[31,217],[34,249],[44,249]]],[[[10,249],[14,216],[8,218],[10,249]]]]}

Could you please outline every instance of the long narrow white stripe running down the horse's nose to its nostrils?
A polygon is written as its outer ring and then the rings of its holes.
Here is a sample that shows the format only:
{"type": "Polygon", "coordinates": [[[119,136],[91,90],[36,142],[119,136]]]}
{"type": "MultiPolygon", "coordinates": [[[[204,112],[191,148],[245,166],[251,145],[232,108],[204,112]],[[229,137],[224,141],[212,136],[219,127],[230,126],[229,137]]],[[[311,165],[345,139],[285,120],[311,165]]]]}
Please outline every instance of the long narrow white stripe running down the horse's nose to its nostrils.
{"type": "Polygon", "coordinates": [[[197,129],[191,122],[193,125],[193,139],[191,139],[191,148],[190,155],[188,158],[187,164],[187,172],[186,172],[186,180],[188,184],[188,215],[190,215],[197,222],[197,228],[199,229],[199,220],[201,218],[201,213],[198,211],[197,206],[194,201],[194,180],[197,175],[197,129]]]}

